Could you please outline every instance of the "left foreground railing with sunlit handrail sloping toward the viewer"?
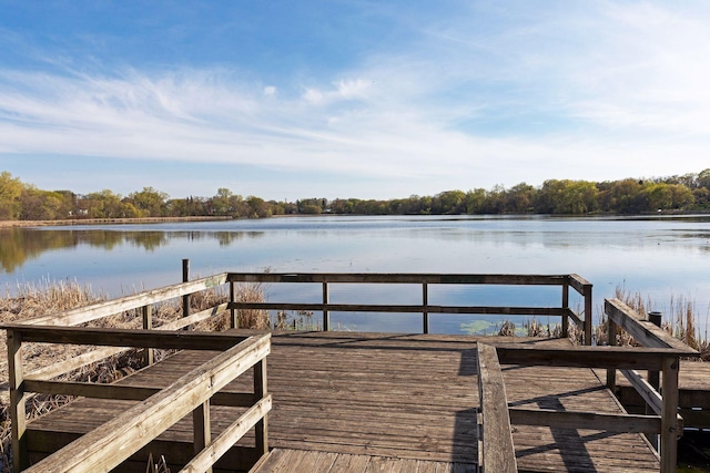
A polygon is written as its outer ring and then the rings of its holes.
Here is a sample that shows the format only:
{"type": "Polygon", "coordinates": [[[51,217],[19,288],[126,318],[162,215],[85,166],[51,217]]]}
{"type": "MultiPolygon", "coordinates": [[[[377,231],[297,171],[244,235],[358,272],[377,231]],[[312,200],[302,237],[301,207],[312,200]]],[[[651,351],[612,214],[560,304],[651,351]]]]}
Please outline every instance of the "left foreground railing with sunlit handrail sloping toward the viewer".
{"type": "MultiPolygon", "coordinates": [[[[195,456],[183,471],[212,471],[212,465],[252,428],[256,428],[256,456],[267,452],[266,413],[272,404],[271,395],[266,392],[266,356],[271,351],[268,333],[246,338],[224,332],[156,332],[37,325],[7,325],[2,328],[8,332],[13,466],[17,472],[29,466],[24,409],[26,399],[30,392],[144,402],[32,465],[26,470],[28,472],[109,471],[191,412],[193,413],[195,456]],[[38,371],[24,374],[22,367],[22,343],[24,342],[220,350],[222,353],[165,389],[134,388],[52,381],[38,374],[38,371]],[[220,392],[229,382],[251,368],[254,369],[253,393],[220,392]],[[212,440],[211,403],[248,409],[212,440]]],[[[62,369],[72,368],[71,363],[60,364],[62,369]]],[[[55,370],[39,372],[49,373],[51,377],[55,370]]]]}

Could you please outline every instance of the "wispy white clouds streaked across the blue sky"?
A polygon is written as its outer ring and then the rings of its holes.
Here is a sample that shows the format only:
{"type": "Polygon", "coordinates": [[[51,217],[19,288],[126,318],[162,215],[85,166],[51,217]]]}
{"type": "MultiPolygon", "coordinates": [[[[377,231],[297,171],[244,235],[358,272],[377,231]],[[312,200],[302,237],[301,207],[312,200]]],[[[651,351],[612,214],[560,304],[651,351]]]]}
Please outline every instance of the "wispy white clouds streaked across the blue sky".
{"type": "Polygon", "coordinates": [[[708,166],[708,8],[516,4],[419,18],[413,42],[331,76],[0,66],[0,153],[317,169],[420,194],[708,166]]]}

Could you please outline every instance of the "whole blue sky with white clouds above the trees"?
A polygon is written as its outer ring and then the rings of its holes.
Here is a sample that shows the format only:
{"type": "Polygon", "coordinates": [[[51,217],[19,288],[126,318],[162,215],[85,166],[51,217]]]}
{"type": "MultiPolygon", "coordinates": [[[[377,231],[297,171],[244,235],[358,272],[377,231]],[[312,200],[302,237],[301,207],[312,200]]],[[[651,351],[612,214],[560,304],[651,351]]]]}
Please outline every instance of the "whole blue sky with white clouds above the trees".
{"type": "Polygon", "coordinates": [[[395,198],[710,167],[710,2],[0,0],[0,171],[395,198]]]}

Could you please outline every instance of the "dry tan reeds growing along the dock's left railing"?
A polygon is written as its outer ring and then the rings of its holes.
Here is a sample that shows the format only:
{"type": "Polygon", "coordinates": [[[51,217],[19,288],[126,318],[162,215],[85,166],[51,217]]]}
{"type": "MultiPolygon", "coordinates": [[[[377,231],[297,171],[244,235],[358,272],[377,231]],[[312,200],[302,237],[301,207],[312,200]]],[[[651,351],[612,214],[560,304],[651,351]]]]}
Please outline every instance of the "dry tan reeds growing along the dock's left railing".
{"type": "MultiPolygon", "coordinates": [[[[239,301],[264,301],[264,295],[260,285],[237,286],[235,298],[239,301]]],[[[64,310],[85,307],[105,300],[103,295],[94,294],[90,287],[81,287],[77,282],[42,281],[39,285],[21,285],[10,295],[0,298],[0,322],[17,322],[36,317],[58,313],[64,310]]],[[[206,290],[196,292],[190,297],[190,311],[195,313],[216,307],[229,300],[229,296],[220,290],[206,290]]],[[[182,317],[182,299],[155,305],[153,311],[153,326],[161,326],[182,317]]],[[[111,328],[141,328],[142,315],[139,310],[128,310],[85,323],[91,327],[111,328]]],[[[240,310],[239,326],[242,328],[265,329],[268,328],[268,313],[264,310],[240,310]]],[[[230,327],[229,312],[212,317],[190,327],[200,331],[222,331],[230,327]]],[[[67,360],[94,347],[51,345],[51,343],[24,343],[22,346],[23,367],[27,371],[67,360]]],[[[155,350],[155,360],[169,356],[170,351],[155,350]]],[[[108,383],[123,378],[142,368],[142,350],[129,350],[101,362],[83,367],[60,379],[72,381],[91,381],[108,383]]],[[[0,471],[11,471],[11,429],[9,419],[9,381],[7,362],[7,337],[0,336],[0,471]]],[[[70,397],[36,394],[28,399],[27,417],[33,419],[53,409],[71,402],[70,397]]],[[[153,464],[155,472],[166,473],[164,459],[153,464]],[[161,463],[162,461],[162,463],[161,463]]]]}

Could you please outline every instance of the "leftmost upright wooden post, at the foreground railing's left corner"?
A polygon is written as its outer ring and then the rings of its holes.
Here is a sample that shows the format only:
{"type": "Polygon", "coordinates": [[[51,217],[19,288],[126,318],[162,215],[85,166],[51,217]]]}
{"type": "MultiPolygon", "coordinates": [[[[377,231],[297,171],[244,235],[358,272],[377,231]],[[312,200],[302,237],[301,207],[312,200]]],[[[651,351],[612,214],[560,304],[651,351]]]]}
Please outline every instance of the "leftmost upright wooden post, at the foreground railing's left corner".
{"type": "Polygon", "coordinates": [[[22,339],[14,330],[8,329],[8,374],[10,381],[10,419],[12,423],[12,466],[20,472],[28,465],[27,415],[24,372],[22,370],[22,339]]]}

